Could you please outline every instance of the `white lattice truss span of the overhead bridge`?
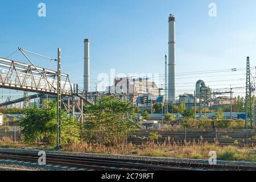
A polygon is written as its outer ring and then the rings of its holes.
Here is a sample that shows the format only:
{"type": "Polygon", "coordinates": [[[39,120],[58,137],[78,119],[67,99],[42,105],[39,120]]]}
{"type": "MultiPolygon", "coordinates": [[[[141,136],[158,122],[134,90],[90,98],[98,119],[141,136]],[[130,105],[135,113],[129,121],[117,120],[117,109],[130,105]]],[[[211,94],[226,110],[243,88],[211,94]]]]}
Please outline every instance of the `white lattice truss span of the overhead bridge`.
{"type": "MultiPolygon", "coordinates": [[[[0,85],[7,89],[56,94],[57,72],[0,57],[0,85]]],[[[61,93],[72,95],[72,85],[65,73],[61,73],[61,93]]]]}

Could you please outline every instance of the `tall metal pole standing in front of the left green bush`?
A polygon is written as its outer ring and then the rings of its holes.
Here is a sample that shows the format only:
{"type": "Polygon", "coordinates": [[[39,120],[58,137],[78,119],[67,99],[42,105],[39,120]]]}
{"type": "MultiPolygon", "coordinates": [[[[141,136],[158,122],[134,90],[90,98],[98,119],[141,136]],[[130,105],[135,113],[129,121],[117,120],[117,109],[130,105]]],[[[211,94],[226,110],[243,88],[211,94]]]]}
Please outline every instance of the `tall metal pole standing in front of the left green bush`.
{"type": "Polygon", "coordinates": [[[61,49],[58,48],[58,59],[57,59],[57,148],[61,148],[61,49]]]}

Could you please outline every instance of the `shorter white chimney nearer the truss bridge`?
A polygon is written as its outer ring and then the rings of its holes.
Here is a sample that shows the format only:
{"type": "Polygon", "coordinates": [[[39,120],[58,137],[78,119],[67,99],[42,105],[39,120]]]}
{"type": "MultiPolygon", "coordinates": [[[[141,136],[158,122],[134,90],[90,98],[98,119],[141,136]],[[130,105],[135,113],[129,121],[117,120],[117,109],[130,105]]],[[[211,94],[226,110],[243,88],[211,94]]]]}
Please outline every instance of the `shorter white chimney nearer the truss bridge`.
{"type": "Polygon", "coordinates": [[[84,92],[90,92],[90,42],[84,39],[84,92]]]}

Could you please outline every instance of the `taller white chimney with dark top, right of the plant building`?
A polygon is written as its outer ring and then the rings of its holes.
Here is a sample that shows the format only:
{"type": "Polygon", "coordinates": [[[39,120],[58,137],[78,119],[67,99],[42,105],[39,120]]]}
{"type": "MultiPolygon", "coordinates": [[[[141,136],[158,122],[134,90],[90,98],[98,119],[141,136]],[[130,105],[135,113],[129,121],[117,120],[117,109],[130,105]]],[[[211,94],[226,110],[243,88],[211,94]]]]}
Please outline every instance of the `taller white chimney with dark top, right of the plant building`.
{"type": "Polygon", "coordinates": [[[175,101],[175,17],[169,16],[168,102],[175,101]]]}

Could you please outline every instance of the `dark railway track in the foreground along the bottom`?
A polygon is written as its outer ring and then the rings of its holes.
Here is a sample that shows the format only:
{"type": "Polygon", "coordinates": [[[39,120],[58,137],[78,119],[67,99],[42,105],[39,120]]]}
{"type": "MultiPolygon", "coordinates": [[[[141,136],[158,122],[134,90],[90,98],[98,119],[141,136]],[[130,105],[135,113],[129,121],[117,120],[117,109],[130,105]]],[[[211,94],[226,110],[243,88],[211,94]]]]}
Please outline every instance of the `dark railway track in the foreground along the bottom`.
{"type": "MultiPolygon", "coordinates": [[[[0,159],[38,162],[38,155],[32,152],[0,151],[0,159]]],[[[155,160],[109,159],[89,156],[47,154],[47,164],[69,166],[101,171],[255,171],[256,166],[210,165],[191,162],[162,162],[155,160]]],[[[185,161],[185,160],[184,160],[185,161]]]]}

